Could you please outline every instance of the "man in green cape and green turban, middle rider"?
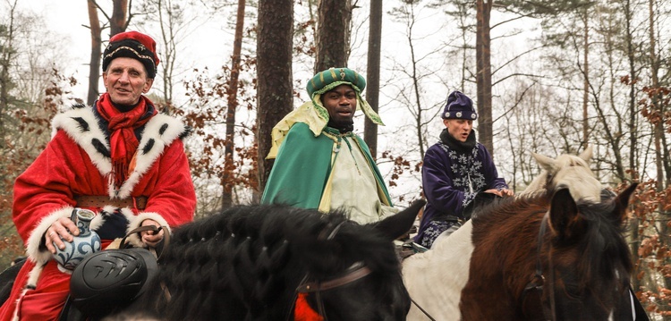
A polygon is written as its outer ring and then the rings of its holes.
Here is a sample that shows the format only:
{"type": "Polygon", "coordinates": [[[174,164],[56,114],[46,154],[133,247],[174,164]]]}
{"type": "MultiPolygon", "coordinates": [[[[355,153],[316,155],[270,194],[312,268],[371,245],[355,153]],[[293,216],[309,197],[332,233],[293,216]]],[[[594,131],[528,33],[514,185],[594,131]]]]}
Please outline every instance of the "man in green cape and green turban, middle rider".
{"type": "Polygon", "coordinates": [[[353,132],[357,107],[384,125],[361,98],[365,87],[366,80],[348,68],[331,68],[310,80],[310,101],[273,128],[267,158],[276,161],[261,203],[344,209],[361,224],[397,211],[368,146],[353,132]]]}

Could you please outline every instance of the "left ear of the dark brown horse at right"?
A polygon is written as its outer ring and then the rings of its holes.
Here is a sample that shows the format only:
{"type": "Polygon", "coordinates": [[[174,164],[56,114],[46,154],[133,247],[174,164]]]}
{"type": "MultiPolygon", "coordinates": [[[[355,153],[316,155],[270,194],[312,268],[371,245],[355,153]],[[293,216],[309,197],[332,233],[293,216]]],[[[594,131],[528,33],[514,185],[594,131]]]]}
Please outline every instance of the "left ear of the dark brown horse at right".
{"type": "Polygon", "coordinates": [[[552,196],[549,216],[550,228],[560,241],[571,240],[582,232],[584,222],[568,189],[559,189],[552,196]]]}

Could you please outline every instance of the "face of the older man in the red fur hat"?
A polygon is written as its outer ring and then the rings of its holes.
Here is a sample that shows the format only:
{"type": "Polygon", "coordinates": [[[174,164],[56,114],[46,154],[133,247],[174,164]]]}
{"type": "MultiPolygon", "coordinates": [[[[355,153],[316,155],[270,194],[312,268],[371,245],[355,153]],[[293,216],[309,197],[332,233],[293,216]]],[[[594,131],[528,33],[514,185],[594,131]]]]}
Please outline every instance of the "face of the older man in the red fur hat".
{"type": "Polygon", "coordinates": [[[103,72],[103,82],[113,103],[134,106],[140,101],[140,95],[151,89],[154,80],[147,78],[140,61],[120,57],[109,63],[106,72],[103,72]]]}

